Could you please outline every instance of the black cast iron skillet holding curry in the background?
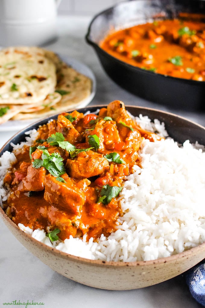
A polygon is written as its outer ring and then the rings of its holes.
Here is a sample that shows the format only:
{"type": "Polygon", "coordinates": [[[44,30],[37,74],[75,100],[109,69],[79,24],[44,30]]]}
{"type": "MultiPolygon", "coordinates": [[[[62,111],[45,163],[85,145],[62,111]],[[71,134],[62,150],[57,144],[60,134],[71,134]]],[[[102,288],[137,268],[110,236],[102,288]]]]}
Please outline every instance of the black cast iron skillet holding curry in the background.
{"type": "MultiPolygon", "coordinates": [[[[175,109],[205,110],[205,82],[156,74],[134,67],[109,55],[99,43],[113,29],[122,29],[154,19],[177,18],[181,12],[205,16],[204,0],[133,0],[96,15],[86,34],[106,73],[121,87],[175,109]]],[[[204,18],[205,20],[205,18],[204,18]]]]}

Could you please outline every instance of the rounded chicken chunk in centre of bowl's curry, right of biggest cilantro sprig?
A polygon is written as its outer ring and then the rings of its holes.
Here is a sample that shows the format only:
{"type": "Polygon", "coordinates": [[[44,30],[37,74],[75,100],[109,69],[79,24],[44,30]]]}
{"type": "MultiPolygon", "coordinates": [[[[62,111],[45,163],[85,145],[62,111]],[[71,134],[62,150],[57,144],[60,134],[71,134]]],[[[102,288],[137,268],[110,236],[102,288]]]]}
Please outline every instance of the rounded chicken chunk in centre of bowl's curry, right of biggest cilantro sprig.
{"type": "Polygon", "coordinates": [[[66,170],[74,179],[97,176],[109,169],[109,163],[102,154],[93,151],[81,152],[75,159],[68,159],[66,170]]]}

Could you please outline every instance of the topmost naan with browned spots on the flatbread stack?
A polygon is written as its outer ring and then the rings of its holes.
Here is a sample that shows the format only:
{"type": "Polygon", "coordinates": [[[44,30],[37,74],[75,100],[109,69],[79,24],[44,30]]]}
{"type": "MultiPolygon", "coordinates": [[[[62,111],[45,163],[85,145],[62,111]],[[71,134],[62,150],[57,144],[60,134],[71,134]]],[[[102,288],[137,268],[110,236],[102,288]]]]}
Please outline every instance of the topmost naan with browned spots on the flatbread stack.
{"type": "Polygon", "coordinates": [[[37,47],[0,51],[0,104],[37,103],[55,90],[56,66],[37,47]]]}

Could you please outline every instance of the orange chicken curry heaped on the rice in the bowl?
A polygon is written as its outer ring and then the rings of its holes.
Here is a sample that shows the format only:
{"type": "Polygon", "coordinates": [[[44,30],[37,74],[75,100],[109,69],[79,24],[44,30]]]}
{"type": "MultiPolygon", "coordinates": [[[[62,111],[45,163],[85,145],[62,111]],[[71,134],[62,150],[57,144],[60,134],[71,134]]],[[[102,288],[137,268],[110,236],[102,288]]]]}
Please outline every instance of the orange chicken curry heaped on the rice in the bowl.
{"type": "Polygon", "coordinates": [[[48,232],[57,228],[61,240],[70,235],[87,234],[87,239],[97,239],[102,233],[109,235],[120,214],[119,191],[106,202],[103,188],[122,186],[137,163],[142,137],[151,141],[161,139],[139,128],[120,101],[101,108],[99,115],[84,116],[77,111],[58,115],[57,120],[38,129],[31,148],[24,146],[15,153],[17,163],[4,179],[10,188],[4,204],[6,214],[15,224],[22,223],[33,230],[48,232]],[[57,135],[77,151],[93,148],[72,157],[63,144],[53,144],[48,139],[57,135]],[[96,148],[90,141],[94,136],[99,141],[96,148]],[[43,149],[49,156],[58,153],[62,159],[65,169],[60,176],[53,176],[45,166],[34,167],[34,162],[44,161],[43,149]],[[105,155],[110,153],[119,154],[122,161],[109,161],[105,155]]]}

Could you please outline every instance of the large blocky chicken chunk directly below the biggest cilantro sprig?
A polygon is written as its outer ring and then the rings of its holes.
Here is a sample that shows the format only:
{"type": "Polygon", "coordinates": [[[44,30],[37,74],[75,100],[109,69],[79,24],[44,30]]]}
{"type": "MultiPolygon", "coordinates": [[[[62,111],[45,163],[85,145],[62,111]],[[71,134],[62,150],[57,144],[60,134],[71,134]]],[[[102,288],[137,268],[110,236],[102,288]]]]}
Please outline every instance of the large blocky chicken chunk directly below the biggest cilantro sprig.
{"type": "Polygon", "coordinates": [[[66,212],[78,215],[82,205],[85,203],[85,196],[81,189],[67,178],[66,183],[59,182],[54,176],[45,176],[45,201],[66,212]]]}

